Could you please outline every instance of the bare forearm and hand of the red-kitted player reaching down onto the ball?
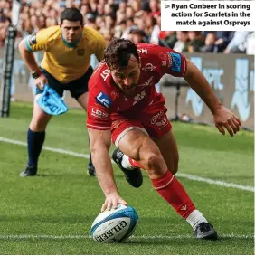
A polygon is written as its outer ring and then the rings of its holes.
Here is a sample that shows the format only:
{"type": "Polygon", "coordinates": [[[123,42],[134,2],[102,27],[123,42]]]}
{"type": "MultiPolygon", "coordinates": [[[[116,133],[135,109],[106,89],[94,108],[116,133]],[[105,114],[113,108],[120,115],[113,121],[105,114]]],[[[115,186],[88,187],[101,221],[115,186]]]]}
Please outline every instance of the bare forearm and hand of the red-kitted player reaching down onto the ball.
{"type": "Polygon", "coordinates": [[[113,176],[113,168],[109,157],[111,144],[110,130],[88,128],[92,162],[99,179],[99,185],[106,196],[101,211],[116,209],[117,204],[127,204],[118,194],[118,188],[113,176]]]}

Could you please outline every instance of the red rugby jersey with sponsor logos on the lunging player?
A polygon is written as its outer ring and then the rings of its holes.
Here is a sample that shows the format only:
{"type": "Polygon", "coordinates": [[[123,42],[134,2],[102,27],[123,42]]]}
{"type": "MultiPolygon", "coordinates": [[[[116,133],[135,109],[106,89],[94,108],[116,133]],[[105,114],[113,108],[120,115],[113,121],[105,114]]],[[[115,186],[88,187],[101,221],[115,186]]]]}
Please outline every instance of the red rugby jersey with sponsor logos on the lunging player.
{"type": "Polygon", "coordinates": [[[125,119],[139,119],[141,109],[153,103],[156,96],[155,85],[164,74],[184,76],[186,60],[182,54],[148,43],[138,43],[137,50],[141,73],[135,97],[127,97],[121,93],[104,62],[94,71],[89,82],[88,128],[109,129],[117,113],[125,119]]]}

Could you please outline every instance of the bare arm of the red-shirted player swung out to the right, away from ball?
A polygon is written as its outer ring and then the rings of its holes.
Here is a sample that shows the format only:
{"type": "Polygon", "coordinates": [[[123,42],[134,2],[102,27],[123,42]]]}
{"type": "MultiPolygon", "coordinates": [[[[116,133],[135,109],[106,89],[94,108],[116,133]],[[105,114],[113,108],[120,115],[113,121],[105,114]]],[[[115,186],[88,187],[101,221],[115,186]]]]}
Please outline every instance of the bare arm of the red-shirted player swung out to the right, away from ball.
{"type": "Polygon", "coordinates": [[[229,134],[234,136],[240,129],[240,119],[238,119],[231,110],[222,105],[222,102],[218,100],[209,82],[203,76],[203,73],[189,60],[187,60],[187,69],[184,74],[184,79],[211,110],[215,126],[222,135],[225,135],[224,128],[226,128],[229,134]]]}

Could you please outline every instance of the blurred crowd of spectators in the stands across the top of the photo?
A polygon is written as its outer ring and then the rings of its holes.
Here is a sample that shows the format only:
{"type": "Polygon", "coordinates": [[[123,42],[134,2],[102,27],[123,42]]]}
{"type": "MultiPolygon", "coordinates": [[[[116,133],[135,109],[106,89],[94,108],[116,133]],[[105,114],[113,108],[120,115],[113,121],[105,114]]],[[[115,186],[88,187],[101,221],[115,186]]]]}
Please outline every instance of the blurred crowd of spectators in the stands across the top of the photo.
{"type": "MultiPolygon", "coordinates": [[[[66,7],[79,8],[85,25],[98,30],[107,42],[118,37],[159,44],[177,52],[255,53],[254,32],[160,31],[159,0],[23,0],[17,42],[58,24],[66,7]]],[[[12,0],[0,0],[0,47],[5,44],[11,10],[12,0]]]]}

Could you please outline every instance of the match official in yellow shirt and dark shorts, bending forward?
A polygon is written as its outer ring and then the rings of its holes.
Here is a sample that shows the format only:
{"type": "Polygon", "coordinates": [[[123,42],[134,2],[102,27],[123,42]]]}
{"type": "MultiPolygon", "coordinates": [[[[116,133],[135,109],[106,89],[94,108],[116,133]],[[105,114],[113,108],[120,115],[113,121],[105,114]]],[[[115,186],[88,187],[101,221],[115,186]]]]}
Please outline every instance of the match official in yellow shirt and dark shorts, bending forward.
{"type": "MultiPolygon", "coordinates": [[[[43,86],[48,84],[61,97],[64,90],[69,90],[71,97],[87,111],[88,81],[93,72],[90,55],[95,54],[100,62],[105,47],[103,37],[96,30],[83,25],[82,14],[77,8],[66,8],[61,13],[60,25],[28,35],[19,43],[21,56],[37,86],[33,117],[27,131],[28,162],[20,176],[36,175],[45,130],[52,118],[36,103],[43,86]],[[36,51],[44,51],[40,67],[33,56],[36,51]]],[[[91,157],[88,171],[90,175],[96,175],[91,157]]]]}

